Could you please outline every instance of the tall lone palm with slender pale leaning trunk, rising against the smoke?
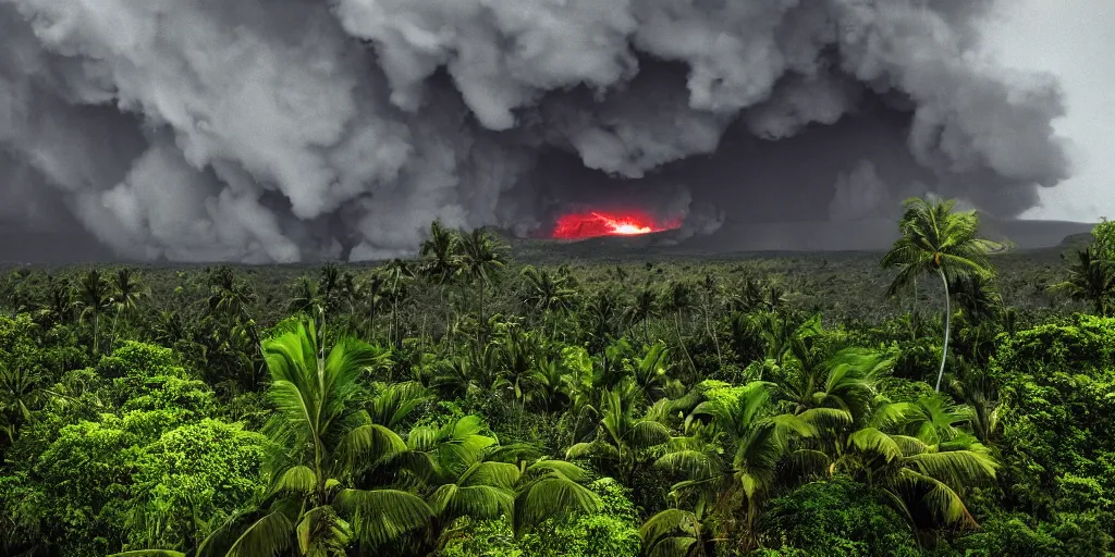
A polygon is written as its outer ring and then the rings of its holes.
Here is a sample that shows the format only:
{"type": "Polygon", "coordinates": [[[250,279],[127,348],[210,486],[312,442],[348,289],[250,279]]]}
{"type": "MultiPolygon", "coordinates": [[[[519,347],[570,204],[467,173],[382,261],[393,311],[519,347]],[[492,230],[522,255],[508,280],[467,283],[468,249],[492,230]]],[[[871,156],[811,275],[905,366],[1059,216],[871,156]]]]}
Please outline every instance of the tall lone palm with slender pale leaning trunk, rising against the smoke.
{"type": "Polygon", "coordinates": [[[953,213],[954,201],[930,203],[918,197],[903,203],[905,213],[899,222],[902,237],[883,256],[884,268],[900,272],[888,289],[888,295],[912,284],[918,276],[935,274],[944,285],[944,343],[935,390],[941,390],[944,364],[949,355],[951,306],[949,285],[971,276],[990,276],[988,253],[993,244],[977,237],[979,217],[975,211],[953,213]]]}

